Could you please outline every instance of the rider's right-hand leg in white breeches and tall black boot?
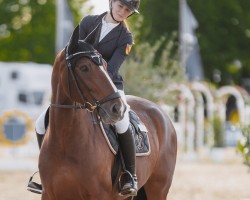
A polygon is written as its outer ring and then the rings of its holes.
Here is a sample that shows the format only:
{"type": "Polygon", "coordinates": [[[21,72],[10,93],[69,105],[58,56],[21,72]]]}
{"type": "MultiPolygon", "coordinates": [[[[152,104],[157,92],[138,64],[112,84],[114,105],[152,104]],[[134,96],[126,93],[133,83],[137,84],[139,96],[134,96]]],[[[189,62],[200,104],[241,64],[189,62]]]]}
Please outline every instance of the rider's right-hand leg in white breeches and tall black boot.
{"type": "MultiPolygon", "coordinates": [[[[125,94],[123,91],[121,93],[123,101],[126,103],[125,94]]],[[[127,103],[126,103],[127,104],[127,103]]],[[[115,124],[116,131],[118,133],[118,140],[123,155],[126,170],[132,175],[131,178],[125,179],[125,184],[122,185],[121,195],[137,195],[137,177],[136,177],[136,152],[135,152],[135,142],[132,135],[132,129],[129,123],[129,110],[130,107],[127,105],[127,110],[124,114],[124,118],[115,124]]]]}

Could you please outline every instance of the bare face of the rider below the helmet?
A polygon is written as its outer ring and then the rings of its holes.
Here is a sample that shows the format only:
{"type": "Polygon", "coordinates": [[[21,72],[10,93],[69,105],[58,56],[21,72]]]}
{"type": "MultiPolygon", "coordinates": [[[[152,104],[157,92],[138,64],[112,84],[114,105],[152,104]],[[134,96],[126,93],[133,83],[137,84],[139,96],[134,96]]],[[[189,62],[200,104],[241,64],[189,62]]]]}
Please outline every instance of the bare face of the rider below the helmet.
{"type": "Polygon", "coordinates": [[[119,0],[113,1],[112,7],[113,7],[114,18],[120,22],[127,19],[127,17],[131,15],[133,12],[132,10],[129,9],[128,6],[126,6],[119,0]]]}

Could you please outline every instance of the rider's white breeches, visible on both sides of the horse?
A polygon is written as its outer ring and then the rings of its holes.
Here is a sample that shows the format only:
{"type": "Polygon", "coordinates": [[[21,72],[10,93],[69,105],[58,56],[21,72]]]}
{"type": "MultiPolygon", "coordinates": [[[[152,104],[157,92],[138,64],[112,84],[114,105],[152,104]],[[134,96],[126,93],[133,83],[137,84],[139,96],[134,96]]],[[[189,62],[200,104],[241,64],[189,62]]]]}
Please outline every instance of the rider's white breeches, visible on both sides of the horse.
{"type": "MultiPolygon", "coordinates": [[[[122,133],[125,133],[129,127],[130,106],[127,104],[124,91],[118,90],[118,92],[121,94],[121,98],[122,98],[124,104],[127,106],[127,109],[126,109],[126,112],[124,113],[123,119],[115,123],[115,129],[116,129],[117,133],[122,134],[122,133]]],[[[45,121],[45,114],[46,114],[47,109],[45,109],[36,120],[36,127],[35,127],[36,132],[40,135],[44,135],[46,132],[44,121],[45,121]]]]}

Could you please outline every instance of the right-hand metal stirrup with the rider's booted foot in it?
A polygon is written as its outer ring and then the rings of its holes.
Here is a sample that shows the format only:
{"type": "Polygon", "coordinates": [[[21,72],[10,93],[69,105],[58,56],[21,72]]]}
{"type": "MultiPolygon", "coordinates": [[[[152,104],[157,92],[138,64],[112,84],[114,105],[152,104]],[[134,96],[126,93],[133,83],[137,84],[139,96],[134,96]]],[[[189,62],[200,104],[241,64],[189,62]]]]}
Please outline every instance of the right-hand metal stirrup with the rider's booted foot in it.
{"type": "Polygon", "coordinates": [[[137,195],[137,177],[125,170],[121,173],[118,181],[118,193],[120,196],[136,196],[137,195]],[[124,181],[123,179],[127,179],[124,181]]]}

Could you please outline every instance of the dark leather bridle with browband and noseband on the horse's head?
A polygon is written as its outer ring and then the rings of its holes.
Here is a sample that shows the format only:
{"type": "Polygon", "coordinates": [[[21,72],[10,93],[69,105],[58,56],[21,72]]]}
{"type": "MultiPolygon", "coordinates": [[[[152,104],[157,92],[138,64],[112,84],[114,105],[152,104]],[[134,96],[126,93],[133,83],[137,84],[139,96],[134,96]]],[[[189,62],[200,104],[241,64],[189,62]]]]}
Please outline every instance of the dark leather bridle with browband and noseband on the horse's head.
{"type": "MultiPolygon", "coordinates": [[[[111,101],[116,98],[120,98],[121,95],[119,92],[114,92],[111,95],[108,95],[104,97],[101,100],[97,100],[91,93],[90,96],[94,100],[94,104],[91,104],[87,98],[83,95],[82,91],[80,90],[78,86],[78,82],[75,76],[75,73],[72,69],[72,62],[76,61],[80,57],[88,57],[90,60],[92,60],[98,67],[102,65],[102,57],[101,55],[96,51],[96,50],[90,50],[90,51],[80,51],[76,52],[74,54],[69,54],[68,52],[68,46],[65,47],[65,52],[66,52],[66,62],[67,62],[67,69],[68,69],[68,74],[71,74],[71,79],[74,82],[74,85],[77,89],[77,92],[82,100],[84,102],[83,104],[80,103],[75,103],[75,105],[62,105],[62,104],[50,104],[51,107],[56,107],[56,108],[73,108],[73,109],[87,109],[89,112],[93,112],[96,108],[101,107],[101,105],[105,102],[111,101]]],[[[75,63],[75,62],[74,62],[75,63]]],[[[84,82],[83,82],[84,84],[84,82]]],[[[85,88],[88,87],[86,84],[84,84],[85,88]]],[[[70,79],[68,78],[68,87],[69,87],[69,92],[71,93],[70,90],[70,79]]],[[[70,94],[71,96],[71,94],[70,94]]]]}

